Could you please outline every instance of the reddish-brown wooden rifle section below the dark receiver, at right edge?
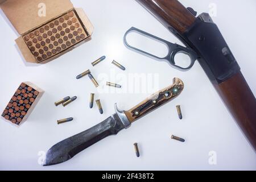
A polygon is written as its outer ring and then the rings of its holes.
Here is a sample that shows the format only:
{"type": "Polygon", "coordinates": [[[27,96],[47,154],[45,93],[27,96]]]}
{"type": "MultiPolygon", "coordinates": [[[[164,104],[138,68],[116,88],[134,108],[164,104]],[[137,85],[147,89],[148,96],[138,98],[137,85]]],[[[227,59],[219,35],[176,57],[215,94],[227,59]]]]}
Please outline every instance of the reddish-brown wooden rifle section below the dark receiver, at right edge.
{"type": "Polygon", "coordinates": [[[242,73],[214,86],[256,151],[256,100],[242,73]]]}

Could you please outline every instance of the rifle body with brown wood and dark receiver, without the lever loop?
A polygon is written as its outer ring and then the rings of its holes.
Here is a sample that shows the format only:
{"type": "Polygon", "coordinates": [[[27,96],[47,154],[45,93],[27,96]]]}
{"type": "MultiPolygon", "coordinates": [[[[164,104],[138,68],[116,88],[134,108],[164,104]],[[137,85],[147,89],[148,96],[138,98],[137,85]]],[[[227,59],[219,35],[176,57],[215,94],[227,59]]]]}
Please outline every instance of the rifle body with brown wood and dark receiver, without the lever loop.
{"type": "MultiPolygon", "coordinates": [[[[256,150],[256,100],[220,30],[209,14],[177,0],[137,0],[188,48],[228,107],[233,118],[256,150]]],[[[156,39],[156,38],[155,38],[156,39]]]]}

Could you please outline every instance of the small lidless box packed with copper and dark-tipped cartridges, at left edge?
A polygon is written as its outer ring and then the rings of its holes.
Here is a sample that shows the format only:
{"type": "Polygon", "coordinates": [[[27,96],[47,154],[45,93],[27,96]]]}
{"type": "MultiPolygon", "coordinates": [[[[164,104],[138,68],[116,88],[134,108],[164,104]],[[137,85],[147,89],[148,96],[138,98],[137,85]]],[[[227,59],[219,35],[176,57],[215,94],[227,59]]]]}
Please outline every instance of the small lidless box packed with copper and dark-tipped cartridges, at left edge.
{"type": "Polygon", "coordinates": [[[31,82],[22,82],[3,110],[2,117],[16,126],[25,122],[44,91],[31,82]]]}

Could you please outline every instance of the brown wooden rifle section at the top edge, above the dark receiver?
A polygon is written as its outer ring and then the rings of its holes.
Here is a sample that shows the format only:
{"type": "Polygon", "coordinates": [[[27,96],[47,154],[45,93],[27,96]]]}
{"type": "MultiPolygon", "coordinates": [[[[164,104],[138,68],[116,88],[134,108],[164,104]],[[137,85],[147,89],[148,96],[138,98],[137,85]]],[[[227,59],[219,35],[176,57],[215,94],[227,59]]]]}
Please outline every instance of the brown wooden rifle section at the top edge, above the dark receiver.
{"type": "Polygon", "coordinates": [[[177,0],[137,0],[168,29],[170,26],[183,34],[195,22],[196,17],[177,0]]]}

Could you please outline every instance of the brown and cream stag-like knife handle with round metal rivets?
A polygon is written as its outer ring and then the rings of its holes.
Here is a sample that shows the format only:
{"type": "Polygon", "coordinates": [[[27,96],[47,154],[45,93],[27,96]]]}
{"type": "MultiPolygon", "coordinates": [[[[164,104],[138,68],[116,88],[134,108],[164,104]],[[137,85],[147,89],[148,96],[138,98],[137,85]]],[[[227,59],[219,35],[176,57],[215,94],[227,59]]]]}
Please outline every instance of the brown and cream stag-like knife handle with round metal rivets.
{"type": "Polygon", "coordinates": [[[152,94],[152,96],[148,97],[137,106],[125,111],[125,115],[132,123],[179,96],[179,94],[183,91],[183,88],[183,81],[181,81],[179,78],[174,78],[174,83],[171,86],[152,94]]]}

